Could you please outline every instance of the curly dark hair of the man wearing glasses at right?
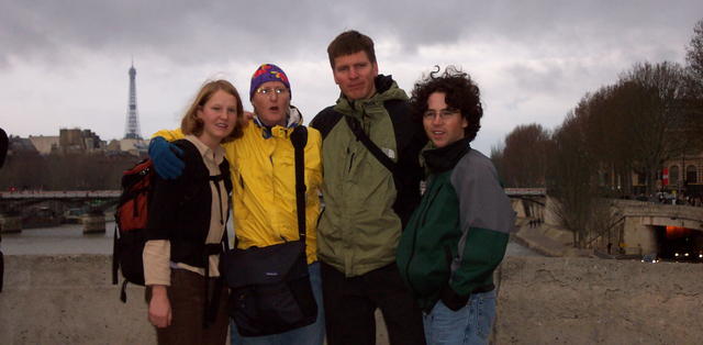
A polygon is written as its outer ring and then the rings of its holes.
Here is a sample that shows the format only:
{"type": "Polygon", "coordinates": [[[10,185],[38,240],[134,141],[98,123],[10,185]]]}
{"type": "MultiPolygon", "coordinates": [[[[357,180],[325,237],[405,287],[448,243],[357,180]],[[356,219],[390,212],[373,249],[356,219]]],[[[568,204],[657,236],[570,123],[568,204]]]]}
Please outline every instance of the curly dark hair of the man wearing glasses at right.
{"type": "Polygon", "coordinates": [[[454,66],[448,66],[439,76],[437,75],[440,68],[439,66],[435,67],[437,70],[415,82],[410,99],[414,119],[422,123],[422,114],[427,110],[427,99],[429,94],[443,92],[445,93],[445,102],[447,105],[460,110],[461,116],[469,123],[469,125],[464,129],[464,136],[468,138],[469,142],[472,142],[481,127],[481,116],[483,116],[479,87],[469,74],[454,66]]]}

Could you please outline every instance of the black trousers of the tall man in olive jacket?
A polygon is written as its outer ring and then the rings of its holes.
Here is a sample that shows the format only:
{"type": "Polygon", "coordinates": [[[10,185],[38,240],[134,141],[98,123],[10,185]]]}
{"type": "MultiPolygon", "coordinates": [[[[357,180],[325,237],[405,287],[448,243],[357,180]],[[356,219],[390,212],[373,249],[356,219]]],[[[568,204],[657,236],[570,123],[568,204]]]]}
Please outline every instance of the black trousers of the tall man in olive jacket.
{"type": "Polygon", "coordinates": [[[377,308],[392,345],[425,344],[422,312],[395,264],[352,278],[325,263],[321,268],[328,345],[376,344],[377,308]]]}

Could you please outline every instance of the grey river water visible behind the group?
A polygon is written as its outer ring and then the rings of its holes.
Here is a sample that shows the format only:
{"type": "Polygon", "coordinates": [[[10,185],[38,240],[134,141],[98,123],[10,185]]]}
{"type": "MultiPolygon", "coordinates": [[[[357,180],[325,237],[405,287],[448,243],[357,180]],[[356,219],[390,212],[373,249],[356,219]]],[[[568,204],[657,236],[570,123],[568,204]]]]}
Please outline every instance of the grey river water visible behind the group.
{"type": "MultiPolygon", "coordinates": [[[[83,234],[81,224],[25,229],[21,233],[3,233],[0,248],[5,255],[112,254],[113,232],[114,221],[107,222],[105,232],[98,234],[83,234]]],[[[230,238],[233,238],[231,232],[230,238]]],[[[505,255],[542,256],[513,241],[507,244],[505,255]]]]}

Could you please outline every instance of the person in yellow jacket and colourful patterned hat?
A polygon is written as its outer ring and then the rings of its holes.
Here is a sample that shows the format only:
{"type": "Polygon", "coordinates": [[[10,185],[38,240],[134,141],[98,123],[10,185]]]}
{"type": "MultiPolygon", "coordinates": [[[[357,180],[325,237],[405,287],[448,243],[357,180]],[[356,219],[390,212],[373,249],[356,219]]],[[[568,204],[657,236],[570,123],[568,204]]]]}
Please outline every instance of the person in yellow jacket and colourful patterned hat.
{"type": "MultiPolygon", "coordinates": [[[[293,129],[302,124],[300,111],[290,105],[288,77],[278,66],[264,64],[252,76],[249,99],[254,118],[244,135],[224,144],[230,162],[234,190],[234,229],[237,247],[265,247],[298,240],[295,209],[294,153],[290,141],[293,129]]],[[[175,177],[182,169],[178,148],[168,141],[180,138],[180,131],[160,131],[149,145],[149,156],[156,171],[164,178],[175,177]]],[[[267,336],[245,337],[232,326],[233,344],[322,344],[324,310],[317,263],[316,225],[320,215],[319,190],[322,183],[322,137],[308,129],[305,145],[305,249],[310,278],[317,302],[317,321],[311,325],[267,336]]]]}

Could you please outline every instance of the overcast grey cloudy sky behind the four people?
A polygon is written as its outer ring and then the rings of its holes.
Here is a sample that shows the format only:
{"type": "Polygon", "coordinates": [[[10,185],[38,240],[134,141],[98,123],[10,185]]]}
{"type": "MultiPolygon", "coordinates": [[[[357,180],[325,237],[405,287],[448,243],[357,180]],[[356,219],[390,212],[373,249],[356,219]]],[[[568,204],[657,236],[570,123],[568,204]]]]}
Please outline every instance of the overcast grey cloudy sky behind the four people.
{"type": "Polygon", "coordinates": [[[0,0],[0,126],[121,138],[132,58],[145,136],[178,126],[207,79],[247,94],[261,63],[286,70],[308,122],[339,92],[327,44],[356,29],[406,90],[434,65],[470,73],[486,110],[473,146],[489,154],[518,124],[558,125],[635,63],[684,64],[701,19],[700,0],[0,0]]]}

